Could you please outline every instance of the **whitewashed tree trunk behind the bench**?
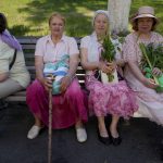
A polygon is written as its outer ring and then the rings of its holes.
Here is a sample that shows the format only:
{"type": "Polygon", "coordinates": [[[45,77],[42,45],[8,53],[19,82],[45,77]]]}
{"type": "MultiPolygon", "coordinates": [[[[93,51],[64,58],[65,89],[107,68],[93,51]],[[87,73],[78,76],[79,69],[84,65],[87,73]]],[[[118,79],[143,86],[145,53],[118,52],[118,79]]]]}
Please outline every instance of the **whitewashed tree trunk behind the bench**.
{"type": "Polygon", "coordinates": [[[113,33],[128,32],[128,15],[131,0],[108,0],[110,29],[113,33]]]}

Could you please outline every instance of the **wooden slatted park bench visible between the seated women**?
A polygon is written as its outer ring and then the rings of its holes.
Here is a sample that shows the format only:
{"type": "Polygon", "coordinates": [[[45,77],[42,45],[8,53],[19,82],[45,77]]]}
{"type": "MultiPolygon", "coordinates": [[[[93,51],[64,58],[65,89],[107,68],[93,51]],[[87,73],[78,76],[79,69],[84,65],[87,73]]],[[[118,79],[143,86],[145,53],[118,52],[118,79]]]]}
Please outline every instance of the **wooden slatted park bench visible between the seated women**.
{"type": "MultiPolygon", "coordinates": [[[[30,73],[32,82],[35,79],[36,74],[35,74],[35,47],[37,39],[39,37],[20,37],[17,38],[20,43],[23,47],[24,51],[24,58],[25,58],[25,63],[27,66],[27,70],[30,73]]],[[[77,45],[79,46],[80,39],[76,38],[77,45]]],[[[80,64],[77,67],[76,76],[79,80],[79,84],[82,87],[85,86],[85,71],[82,68],[80,64]]],[[[5,98],[5,101],[12,102],[12,101],[18,101],[18,102],[25,102],[26,101],[26,90],[18,91],[16,93],[13,93],[9,97],[5,98]]]]}

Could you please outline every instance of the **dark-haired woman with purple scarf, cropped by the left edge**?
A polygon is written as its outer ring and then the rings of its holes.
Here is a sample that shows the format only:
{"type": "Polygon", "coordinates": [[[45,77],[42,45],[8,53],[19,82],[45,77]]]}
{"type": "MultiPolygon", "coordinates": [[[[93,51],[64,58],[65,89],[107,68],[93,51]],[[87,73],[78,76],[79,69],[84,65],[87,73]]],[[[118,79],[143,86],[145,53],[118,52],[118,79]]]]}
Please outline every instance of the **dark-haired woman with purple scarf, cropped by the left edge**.
{"type": "Polygon", "coordinates": [[[7,27],[7,17],[0,13],[0,99],[26,88],[30,82],[22,47],[7,27]]]}

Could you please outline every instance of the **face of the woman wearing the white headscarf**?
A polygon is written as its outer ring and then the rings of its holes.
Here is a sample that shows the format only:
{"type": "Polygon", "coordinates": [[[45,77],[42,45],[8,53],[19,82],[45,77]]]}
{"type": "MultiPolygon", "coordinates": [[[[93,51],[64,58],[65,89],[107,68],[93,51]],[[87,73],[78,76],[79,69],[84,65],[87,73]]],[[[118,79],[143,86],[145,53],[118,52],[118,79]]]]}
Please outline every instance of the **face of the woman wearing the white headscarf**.
{"type": "Polygon", "coordinates": [[[109,29],[109,20],[104,14],[98,14],[95,18],[93,28],[97,35],[105,35],[109,29]]]}

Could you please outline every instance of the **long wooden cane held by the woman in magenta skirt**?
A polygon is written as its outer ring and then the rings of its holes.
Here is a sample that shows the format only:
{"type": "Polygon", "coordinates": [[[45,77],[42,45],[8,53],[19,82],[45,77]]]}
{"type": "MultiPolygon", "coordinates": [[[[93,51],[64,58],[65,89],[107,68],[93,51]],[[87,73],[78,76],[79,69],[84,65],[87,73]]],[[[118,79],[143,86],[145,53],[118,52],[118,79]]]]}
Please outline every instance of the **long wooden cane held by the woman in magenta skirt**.
{"type": "MultiPolygon", "coordinates": [[[[48,77],[53,82],[54,76],[48,77]]],[[[52,163],[52,88],[49,89],[48,163],[52,163]]]]}

